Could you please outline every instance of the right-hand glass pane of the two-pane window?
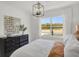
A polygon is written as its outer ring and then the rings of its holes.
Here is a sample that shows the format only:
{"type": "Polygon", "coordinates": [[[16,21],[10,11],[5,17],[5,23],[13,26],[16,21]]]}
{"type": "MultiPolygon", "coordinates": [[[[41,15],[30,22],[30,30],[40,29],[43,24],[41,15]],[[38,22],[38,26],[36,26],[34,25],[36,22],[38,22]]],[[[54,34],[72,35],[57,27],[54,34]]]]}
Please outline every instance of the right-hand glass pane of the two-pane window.
{"type": "Polygon", "coordinates": [[[53,17],[52,18],[52,30],[54,35],[63,35],[63,17],[53,17]]]}

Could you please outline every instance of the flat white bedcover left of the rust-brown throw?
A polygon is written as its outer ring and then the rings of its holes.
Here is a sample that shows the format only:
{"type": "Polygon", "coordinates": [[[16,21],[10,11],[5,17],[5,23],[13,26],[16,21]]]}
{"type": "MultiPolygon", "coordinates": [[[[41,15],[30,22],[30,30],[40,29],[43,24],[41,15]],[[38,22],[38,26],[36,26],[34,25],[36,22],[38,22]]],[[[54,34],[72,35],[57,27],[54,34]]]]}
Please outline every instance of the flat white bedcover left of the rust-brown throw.
{"type": "Polygon", "coordinates": [[[47,57],[54,42],[54,40],[35,40],[17,49],[11,57],[47,57]]]}

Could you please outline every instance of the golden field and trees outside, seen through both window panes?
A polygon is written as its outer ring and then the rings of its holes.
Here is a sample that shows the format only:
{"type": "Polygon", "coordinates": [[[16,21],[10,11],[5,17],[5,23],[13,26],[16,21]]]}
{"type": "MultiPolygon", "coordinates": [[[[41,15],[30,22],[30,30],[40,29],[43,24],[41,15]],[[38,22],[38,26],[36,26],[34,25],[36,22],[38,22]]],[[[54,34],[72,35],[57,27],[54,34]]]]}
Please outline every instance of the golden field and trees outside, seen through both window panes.
{"type": "MultiPolygon", "coordinates": [[[[41,35],[51,34],[50,24],[43,24],[41,29],[41,35]]],[[[54,35],[63,35],[63,24],[52,24],[52,30],[54,35]]]]}

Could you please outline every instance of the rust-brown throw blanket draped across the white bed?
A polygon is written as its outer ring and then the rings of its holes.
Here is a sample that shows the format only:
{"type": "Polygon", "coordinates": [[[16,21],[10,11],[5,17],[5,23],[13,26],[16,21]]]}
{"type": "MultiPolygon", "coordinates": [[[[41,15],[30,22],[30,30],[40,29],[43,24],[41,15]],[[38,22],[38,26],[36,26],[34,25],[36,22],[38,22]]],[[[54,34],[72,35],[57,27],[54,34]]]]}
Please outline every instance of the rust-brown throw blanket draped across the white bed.
{"type": "Polygon", "coordinates": [[[56,42],[48,57],[64,57],[64,44],[62,42],[56,42]]]}

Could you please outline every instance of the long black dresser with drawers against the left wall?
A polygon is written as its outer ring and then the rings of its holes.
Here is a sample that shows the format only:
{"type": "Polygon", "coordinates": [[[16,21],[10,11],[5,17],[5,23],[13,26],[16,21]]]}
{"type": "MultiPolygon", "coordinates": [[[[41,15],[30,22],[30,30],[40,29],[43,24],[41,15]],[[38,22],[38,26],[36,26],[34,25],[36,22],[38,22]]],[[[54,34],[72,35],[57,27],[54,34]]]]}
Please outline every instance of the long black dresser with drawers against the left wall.
{"type": "Polygon", "coordinates": [[[16,49],[28,44],[28,34],[0,38],[0,56],[9,57],[16,49]]]}

